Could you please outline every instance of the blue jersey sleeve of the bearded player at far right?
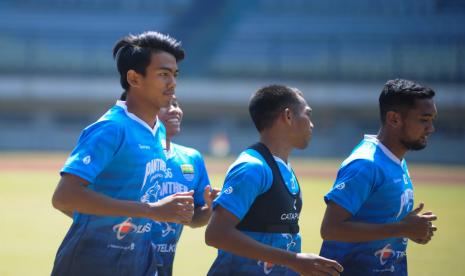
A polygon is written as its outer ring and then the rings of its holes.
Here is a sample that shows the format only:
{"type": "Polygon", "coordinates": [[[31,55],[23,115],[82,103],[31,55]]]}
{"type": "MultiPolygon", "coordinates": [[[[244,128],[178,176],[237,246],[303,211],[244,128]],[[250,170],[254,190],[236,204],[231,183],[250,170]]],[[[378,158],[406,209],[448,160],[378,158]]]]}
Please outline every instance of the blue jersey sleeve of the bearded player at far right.
{"type": "Polygon", "coordinates": [[[376,166],[372,161],[354,160],[339,170],[325,202],[332,201],[355,215],[369,197],[375,178],[376,166]]]}

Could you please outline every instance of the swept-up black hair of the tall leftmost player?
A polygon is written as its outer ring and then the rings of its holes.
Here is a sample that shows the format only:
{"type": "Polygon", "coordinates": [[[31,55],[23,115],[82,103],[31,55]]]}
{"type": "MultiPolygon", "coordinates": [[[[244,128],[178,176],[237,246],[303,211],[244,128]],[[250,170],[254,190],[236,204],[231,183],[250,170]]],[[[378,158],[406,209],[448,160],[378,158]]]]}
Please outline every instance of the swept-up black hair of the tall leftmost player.
{"type": "Polygon", "coordinates": [[[169,35],[159,32],[145,32],[139,35],[128,35],[116,42],[113,47],[113,58],[120,74],[120,83],[124,90],[129,89],[127,73],[134,70],[145,75],[153,53],[167,52],[176,58],[176,62],[184,59],[181,42],[169,35]]]}

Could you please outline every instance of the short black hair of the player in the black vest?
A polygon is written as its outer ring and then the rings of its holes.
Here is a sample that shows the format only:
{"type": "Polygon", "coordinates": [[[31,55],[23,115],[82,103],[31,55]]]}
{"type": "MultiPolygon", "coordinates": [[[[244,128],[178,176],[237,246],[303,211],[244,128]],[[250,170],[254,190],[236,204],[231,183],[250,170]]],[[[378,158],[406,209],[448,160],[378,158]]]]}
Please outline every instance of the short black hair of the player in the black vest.
{"type": "Polygon", "coordinates": [[[286,108],[297,113],[303,98],[302,92],[284,85],[269,85],[260,88],[249,102],[249,114],[258,132],[273,125],[279,114],[286,108]]]}

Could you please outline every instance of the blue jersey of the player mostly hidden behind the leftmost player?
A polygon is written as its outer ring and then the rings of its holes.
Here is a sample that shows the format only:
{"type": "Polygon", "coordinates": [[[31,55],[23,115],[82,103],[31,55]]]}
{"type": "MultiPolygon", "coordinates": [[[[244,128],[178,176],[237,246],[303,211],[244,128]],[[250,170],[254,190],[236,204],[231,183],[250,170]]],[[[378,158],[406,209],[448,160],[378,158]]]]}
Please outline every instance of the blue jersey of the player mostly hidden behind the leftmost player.
{"type": "MultiPolygon", "coordinates": [[[[193,190],[195,207],[205,205],[203,192],[205,187],[210,185],[210,180],[202,155],[195,149],[171,143],[166,158],[166,178],[157,191],[157,197],[162,199],[178,192],[193,190]]],[[[182,228],[183,225],[177,223],[153,223],[152,243],[156,254],[162,260],[162,275],[172,274],[176,244],[182,228]]]]}

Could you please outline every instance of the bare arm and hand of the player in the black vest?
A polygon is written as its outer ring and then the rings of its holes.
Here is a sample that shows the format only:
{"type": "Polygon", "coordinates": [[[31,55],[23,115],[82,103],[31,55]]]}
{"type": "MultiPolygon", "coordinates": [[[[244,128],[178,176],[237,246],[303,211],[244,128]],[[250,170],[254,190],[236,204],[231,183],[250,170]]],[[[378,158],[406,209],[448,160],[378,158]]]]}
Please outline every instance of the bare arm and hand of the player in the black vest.
{"type": "Polygon", "coordinates": [[[281,264],[301,274],[339,275],[342,267],[335,261],[314,254],[295,253],[255,241],[236,229],[239,219],[221,205],[213,211],[205,232],[205,242],[209,246],[233,254],[281,264]]]}

